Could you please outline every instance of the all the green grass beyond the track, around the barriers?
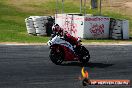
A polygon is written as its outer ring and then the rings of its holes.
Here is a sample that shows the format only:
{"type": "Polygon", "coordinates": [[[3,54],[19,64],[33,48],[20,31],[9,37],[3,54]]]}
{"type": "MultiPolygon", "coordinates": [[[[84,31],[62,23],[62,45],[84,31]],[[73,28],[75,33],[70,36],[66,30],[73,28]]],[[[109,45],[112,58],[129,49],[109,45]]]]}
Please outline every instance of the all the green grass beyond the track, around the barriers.
{"type": "MultiPolygon", "coordinates": [[[[34,8],[35,10],[22,10],[13,5],[7,4],[7,0],[0,1],[0,42],[21,42],[21,43],[44,43],[49,37],[30,36],[27,34],[24,19],[32,15],[54,15],[56,3],[50,0],[45,3],[33,4],[25,3],[21,6],[34,8]]],[[[68,1],[65,3],[64,11],[66,13],[79,12],[79,3],[72,3],[68,1]]],[[[88,7],[87,7],[88,8],[88,7]]],[[[61,3],[59,3],[59,10],[61,12],[61,3]]],[[[98,14],[97,10],[87,10],[87,13],[98,14]]],[[[114,12],[103,12],[105,16],[110,16],[119,19],[128,19],[130,21],[130,29],[132,29],[132,16],[123,16],[114,12]]],[[[132,31],[130,30],[132,36],[132,31]]],[[[115,40],[84,40],[84,42],[115,42],[115,40]]]]}

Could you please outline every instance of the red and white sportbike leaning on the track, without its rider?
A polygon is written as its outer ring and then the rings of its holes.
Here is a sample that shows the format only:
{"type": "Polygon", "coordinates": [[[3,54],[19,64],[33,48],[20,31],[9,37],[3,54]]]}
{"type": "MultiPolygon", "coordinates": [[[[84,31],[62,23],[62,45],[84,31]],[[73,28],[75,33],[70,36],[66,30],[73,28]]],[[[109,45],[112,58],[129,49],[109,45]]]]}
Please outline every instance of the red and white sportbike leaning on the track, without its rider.
{"type": "Polygon", "coordinates": [[[50,46],[49,57],[57,65],[63,61],[80,61],[85,64],[90,59],[89,51],[80,42],[78,45],[72,46],[63,37],[56,35],[47,43],[50,46]]]}

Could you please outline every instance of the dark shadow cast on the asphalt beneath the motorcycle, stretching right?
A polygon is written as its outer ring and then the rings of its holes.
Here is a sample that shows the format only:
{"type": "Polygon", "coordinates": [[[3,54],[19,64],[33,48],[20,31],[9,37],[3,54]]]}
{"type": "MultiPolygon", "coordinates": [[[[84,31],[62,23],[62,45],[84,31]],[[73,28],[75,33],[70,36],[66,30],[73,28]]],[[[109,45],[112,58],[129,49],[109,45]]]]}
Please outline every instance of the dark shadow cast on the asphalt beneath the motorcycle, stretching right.
{"type": "Polygon", "coordinates": [[[80,67],[90,67],[90,68],[106,68],[106,67],[109,67],[109,66],[112,66],[114,64],[104,64],[104,63],[87,63],[85,65],[83,65],[82,63],[79,63],[79,62],[71,62],[71,63],[64,63],[64,64],[61,64],[61,66],[80,66],[80,67]]]}

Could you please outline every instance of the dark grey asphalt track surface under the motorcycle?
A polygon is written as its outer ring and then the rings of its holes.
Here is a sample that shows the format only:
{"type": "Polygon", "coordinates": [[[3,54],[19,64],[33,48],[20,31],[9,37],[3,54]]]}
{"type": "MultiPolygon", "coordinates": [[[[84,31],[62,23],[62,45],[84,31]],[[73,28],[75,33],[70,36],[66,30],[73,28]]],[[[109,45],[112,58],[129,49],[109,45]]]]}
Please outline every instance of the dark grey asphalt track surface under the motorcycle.
{"type": "MultiPolygon", "coordinates": [[[[85,66],[90,79],[132,79],[132,46],[86,47],[91,54],[85,66]]],[[[42,45],[0,45],[0,88],[83,88],[78,79],[82,65],[55,65],[48,53],[42,45]]]]}

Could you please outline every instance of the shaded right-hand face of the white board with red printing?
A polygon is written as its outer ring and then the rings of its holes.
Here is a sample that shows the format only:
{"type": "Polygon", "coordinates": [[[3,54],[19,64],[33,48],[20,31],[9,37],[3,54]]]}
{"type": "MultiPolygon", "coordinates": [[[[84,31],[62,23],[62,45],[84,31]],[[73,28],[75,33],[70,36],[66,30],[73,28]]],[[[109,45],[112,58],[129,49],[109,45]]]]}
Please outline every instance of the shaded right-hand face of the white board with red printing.
{"type": "Polygon", "coordinates": [[[85,17],[83,38],[109,38],[110,18],[102,16],[85,17]]]}

